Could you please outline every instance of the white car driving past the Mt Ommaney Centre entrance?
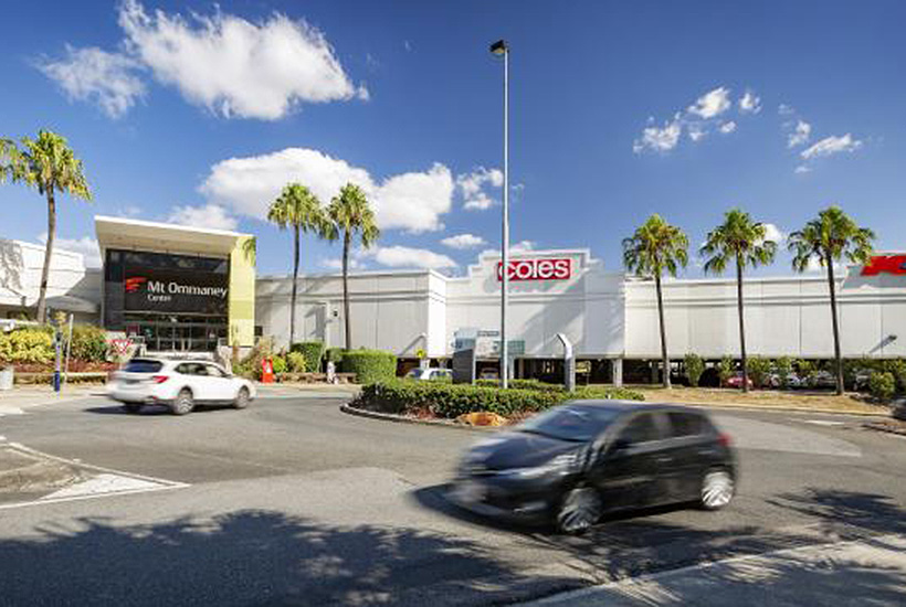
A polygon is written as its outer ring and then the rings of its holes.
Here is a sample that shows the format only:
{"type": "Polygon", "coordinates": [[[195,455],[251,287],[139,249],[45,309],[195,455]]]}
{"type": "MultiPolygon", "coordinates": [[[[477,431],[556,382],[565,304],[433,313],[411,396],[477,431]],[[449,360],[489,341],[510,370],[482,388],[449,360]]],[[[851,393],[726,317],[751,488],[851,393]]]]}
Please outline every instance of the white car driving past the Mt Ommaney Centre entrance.
{"type": "Polygon", "coordinates": [[[133,359],[113,373],[107,395],[129,413],[138,413],[143,405],[160,404],[176,415],[186,415],[196,405],[245,408],[255,397],[255,386],[210,361],[149,358],[133,359]]]}

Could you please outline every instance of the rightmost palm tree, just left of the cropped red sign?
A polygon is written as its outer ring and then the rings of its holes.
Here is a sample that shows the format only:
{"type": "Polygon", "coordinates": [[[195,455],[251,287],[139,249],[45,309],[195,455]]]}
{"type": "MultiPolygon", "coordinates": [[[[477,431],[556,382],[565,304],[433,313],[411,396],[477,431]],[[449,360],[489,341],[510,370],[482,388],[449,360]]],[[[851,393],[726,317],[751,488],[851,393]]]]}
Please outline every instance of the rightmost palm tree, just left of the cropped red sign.
{"type": "Polygon", "coordinates": [[[836,205],[821,211],[818,217],[807,223],[802,230],[790,234],[789,248],[793,253],[794,270],[805,271],[810,262],[818,262],[819,265],[828,268],[837,394],[843,394],[843,358],[840,354],[840,327],[836,319],[834,263],[845,256],[853,264],[867,264],[872,257],[874,238],[874,232],[867,227],[860,227],[836,205]]]}

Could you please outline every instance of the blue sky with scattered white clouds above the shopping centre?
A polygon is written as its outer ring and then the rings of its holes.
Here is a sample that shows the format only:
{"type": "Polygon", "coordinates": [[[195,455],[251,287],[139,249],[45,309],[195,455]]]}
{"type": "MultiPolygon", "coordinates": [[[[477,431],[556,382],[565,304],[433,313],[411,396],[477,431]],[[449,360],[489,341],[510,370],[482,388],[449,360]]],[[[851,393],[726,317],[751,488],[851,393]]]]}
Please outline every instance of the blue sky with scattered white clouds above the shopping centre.
{"type": "MultiPolygon", "coordinates": [[[[499,245],[505,38],[514,243],[618,269],[654,212],[698,245],[734,205],[782,237],[839,203],[902,249],[904,22],[877,0],[17,3],[0,136],[49,128],[84,160],[95,201],[60,209],[75,249],[95,214],[177,220],[251,232],[260,271],[287,271],[274,192],[327,202],[351,179],[384,227],[359,267],[462,273],[499,245]]],[[[0,187],[0,236],[45,231],[36,193],[0,187]]],[[[339,245],[303,247],[305,270],[336,267],[339,245]]]]}

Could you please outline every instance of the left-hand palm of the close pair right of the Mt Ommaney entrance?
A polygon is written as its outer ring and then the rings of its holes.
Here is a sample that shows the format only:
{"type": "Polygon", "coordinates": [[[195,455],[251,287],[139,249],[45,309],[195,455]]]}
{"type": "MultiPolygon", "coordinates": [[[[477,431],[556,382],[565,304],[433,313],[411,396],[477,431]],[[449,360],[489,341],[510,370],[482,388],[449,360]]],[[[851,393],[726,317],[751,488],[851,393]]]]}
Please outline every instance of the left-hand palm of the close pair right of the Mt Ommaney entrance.
{"type": "Polygon", "coordinates": [[[289,300],[289,345],[296,337],[296,290],[298,283],[299,233],[324,234],[327,217],[320,201],[301,183],[288,183],[267,210],[267,221],[293,231],[293,295],[289,300]]]}

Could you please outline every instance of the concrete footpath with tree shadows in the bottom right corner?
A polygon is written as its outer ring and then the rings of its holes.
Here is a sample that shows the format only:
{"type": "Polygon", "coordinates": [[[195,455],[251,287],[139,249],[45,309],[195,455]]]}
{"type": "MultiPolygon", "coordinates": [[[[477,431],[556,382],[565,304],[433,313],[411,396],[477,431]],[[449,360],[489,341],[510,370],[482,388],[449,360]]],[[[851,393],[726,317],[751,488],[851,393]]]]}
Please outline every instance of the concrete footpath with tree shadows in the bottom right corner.
{"type": "Polygon", "coordinates": [[[906,601],[906,536],[781,550],[583,588],[525,607],[876,605],[906,601]]]}

